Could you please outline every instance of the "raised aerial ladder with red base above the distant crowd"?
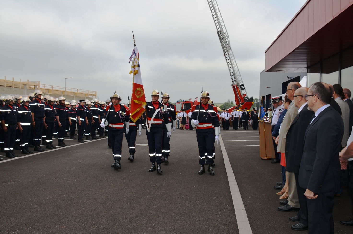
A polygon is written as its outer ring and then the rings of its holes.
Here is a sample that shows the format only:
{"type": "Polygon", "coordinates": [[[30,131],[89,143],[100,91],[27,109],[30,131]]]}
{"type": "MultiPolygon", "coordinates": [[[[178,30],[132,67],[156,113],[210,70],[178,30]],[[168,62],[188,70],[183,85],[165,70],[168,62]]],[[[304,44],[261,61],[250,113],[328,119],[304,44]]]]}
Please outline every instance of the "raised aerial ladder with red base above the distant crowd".
{"type": "MultiPolygon", "coordinates": [[[[227,62],[229,74],[232,78],[232,88],[235,95],[235,103],[238,108],[250,110],[253,99],[252,97],[247,97],[246,89],[243,83],[243,79],[241,79],[240,72],[238,69],[237,62],[235,61],[233,51],[231,48],[231,43],[229,42],[229,36],[224,24],[220,9],[217,5],[216,0],[207,0],[208,6],[210,7],[211,14],[213,17],[213,21],[215,22],[217,35],[221,42],[222,50],[224,57],[227,62]]],[[[231,108],[234,109],[234,108],[231,108]]]]}

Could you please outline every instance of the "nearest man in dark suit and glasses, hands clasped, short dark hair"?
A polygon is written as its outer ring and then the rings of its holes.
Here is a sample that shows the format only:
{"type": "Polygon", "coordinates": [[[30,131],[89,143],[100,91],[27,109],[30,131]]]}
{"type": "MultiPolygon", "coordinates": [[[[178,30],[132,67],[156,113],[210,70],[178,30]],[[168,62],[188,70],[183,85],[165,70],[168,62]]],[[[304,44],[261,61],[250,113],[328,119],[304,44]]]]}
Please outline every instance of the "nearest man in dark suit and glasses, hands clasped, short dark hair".
{"type": "Polygon", "coordinates": [[[309,221],[309,234],[333,233],[334,193],[341,188],[339,153],[344,126],[329,104],[332,95],[333,89],[321,82],[311,85],[306,95],[308,109],[315,114],[304,134],[298,181],[305,189],[306,206],[301,209],[309,221]]]}

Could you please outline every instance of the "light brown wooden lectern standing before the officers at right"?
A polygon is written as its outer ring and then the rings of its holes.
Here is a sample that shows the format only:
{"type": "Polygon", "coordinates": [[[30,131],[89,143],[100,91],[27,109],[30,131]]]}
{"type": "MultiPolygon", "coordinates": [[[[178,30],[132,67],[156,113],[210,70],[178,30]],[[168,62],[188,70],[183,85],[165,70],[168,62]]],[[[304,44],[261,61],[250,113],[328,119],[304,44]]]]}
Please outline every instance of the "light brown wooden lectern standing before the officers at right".
{"type": "Polygon", "coordinates": [[[259,121],[260,157],[262,160],[275,158],[275,149],[272,142],[272,126],[269,122],[259,121]]]}

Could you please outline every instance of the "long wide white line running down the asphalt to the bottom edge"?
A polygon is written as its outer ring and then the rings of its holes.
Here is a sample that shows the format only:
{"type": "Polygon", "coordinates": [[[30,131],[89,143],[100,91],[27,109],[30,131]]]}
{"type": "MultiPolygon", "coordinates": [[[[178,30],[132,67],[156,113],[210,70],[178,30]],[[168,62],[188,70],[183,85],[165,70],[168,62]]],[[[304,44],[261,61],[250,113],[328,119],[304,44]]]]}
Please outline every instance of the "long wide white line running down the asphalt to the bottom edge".
{"type": "Polygon", "coordinates": [[[225,145],[223,144],[223,140],[221,136],[220,136],[220,143],[221,143],[224,164],[226,166],[229,187],[231,189],[233,206],[235,211],[235,218],[237,218],[239,234],[252,234],[250,223],[247,218],[245,207],[243,204],[243,199],[241,199],[238,184],[237,184],[237,181],[235,180],[233,169],[232,169],[231,163],[229,162],[227,151],[226,151],[225,145]]]}

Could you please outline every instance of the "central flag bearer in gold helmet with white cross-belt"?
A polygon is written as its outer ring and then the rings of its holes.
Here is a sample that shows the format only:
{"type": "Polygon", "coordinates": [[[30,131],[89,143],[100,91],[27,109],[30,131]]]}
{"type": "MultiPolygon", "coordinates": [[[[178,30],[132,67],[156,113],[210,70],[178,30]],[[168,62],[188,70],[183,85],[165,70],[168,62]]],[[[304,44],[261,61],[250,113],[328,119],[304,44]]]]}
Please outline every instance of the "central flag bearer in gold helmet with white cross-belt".
{"type": "Polygon", "coordinates": [[[157,170],[158,174],[163,173],[161,169],[162,163],[162,138],[163,138],[163,121],[167,128],[167,137],[172,134],[172,123],[168,120],[167,105],[158,101],[158,90],[154,89],[151,93],[151,102],[146,103],[146,136],[148,140],[148,148],[150,152],[150,162],[152,163],[149,172],[157,170]],[[157,161],[157,168],[155,162],[157,161]]]}

